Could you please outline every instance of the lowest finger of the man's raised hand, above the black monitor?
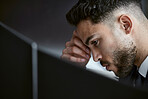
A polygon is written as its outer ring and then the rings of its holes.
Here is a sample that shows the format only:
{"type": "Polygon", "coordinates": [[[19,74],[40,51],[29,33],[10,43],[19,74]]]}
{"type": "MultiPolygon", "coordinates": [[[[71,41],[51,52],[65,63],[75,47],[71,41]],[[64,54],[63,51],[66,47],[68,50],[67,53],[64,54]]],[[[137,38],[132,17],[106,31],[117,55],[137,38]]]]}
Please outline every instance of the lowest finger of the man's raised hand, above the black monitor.
{"type": "Polygon", "coordinates": [[[78,62],[78,63],[86,62],[86,59],[84,59],[84,58],[74,57],[74,56],[69,55],[69,54],[63,54],[63,55],[62,55],[62,58],[63,58],[63,59],[70,60],[70,61],[72,61],[72,62],[78,62]]]}

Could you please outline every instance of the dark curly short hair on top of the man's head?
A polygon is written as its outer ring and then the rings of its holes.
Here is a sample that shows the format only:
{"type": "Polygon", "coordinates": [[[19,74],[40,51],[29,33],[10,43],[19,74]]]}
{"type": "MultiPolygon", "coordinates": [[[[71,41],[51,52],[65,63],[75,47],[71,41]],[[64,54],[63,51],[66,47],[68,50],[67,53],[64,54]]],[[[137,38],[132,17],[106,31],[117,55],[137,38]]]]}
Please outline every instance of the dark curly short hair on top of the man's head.
{"type": "Polygon", "coordinates": [[[79,0],[66,14],[66,18],[74,26],[87,18],[98,23],[104,21],[109,12],[131,3],[142,8],[141,0],[79,0]]]}

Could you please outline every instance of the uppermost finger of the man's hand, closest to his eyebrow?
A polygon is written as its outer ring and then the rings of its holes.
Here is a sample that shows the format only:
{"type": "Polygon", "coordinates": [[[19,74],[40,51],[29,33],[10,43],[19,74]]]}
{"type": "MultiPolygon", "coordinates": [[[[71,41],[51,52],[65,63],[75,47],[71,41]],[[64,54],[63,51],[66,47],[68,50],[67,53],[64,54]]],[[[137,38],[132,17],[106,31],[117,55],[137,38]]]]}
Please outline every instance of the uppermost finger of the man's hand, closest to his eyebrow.
{"type": "Polygon", "coordinates": [[[84,43],[79,38],[74,38],[73,43],[86,53],[90,54],[90,49],[86,45],[84,45],[84,43]]]}

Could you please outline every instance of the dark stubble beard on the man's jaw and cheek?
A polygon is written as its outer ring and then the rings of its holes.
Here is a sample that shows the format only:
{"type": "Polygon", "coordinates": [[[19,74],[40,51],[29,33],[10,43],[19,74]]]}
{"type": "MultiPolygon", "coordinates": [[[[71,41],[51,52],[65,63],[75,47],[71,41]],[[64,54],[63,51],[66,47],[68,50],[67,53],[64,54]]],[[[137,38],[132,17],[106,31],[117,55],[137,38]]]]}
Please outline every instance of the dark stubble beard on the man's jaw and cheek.
{"type": "Polygon", "coordinates": [[[130,41],[130,47],[117,48],[113,52],[113,62],[117,67],[117,72],[115,73],[118,77],[126,77],[134,66],[134,61],[136,57],[136,45],[130,41]]]}

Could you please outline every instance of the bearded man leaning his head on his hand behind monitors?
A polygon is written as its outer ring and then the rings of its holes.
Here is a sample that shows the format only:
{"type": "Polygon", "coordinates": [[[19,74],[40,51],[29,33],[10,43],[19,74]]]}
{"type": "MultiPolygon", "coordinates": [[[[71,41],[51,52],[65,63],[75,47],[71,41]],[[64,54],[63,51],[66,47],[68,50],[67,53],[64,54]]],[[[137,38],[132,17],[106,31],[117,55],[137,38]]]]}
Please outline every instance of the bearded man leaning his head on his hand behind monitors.
{"type": "Polygon", "coordinates": [[[92,52],[121,82],[147,86],[148,64],[141,64],[148,56],[148,20],[140,0],[79,0],[66,18],[77,28],[63,59],[85,66],[92,52]]]}

